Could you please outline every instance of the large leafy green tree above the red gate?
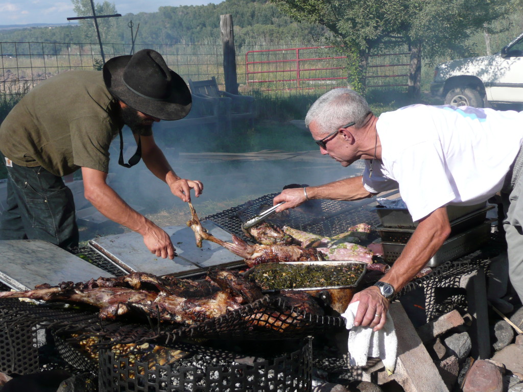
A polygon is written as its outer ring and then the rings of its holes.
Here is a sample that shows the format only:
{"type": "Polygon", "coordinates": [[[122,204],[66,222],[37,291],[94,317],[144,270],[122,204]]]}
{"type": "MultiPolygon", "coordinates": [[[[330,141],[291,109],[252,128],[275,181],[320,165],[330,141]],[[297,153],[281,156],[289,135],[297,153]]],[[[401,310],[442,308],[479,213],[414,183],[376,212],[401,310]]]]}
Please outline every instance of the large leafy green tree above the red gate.
{"type": "Polygon", "coordinates": [[[410,93],[419,96],[421,59],[472,53],[470,34],[505,15],[510,0],[271,0],[296,20],[324,25],[348,58],[353,87],[365,91],[368,56],[383,45],[412,49],[410,93]]]}

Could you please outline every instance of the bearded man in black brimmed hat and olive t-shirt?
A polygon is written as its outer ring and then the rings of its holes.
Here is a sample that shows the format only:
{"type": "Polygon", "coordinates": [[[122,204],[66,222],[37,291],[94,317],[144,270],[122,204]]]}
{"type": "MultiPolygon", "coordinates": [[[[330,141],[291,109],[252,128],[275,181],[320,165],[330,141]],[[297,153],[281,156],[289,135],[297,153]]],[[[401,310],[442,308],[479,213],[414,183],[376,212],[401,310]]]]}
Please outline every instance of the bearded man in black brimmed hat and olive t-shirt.
{"type": "Polygon", "coordinates": [[[188,202],[190,189],[198,197],[203,185],[176,175],[154,141],[152,124],[179,120],[190,108],[184,80],[150,49],[113,57],[103,72],[67,71],[40,83],[0,126],[0,152],[8,175],[0,239],[41,239],[64,249],[77,247],[73,195],[62,177],[81,169],[85,198],[100,213],[140,233],[156,256],[173,259],[169,235],[107,184],[109,146],[119,133],[118,163],[131,167],[143,159],[174,195],[188,202]],[[124,125],[138,144],[127,164],[122,155],[124,125]]]}

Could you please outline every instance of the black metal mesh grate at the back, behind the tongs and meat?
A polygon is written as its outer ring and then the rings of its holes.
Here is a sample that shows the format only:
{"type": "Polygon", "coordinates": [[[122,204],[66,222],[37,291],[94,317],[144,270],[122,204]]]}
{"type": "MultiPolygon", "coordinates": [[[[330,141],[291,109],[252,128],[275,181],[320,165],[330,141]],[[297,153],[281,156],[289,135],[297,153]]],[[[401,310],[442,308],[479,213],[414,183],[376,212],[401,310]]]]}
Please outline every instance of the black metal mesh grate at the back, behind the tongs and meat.
{"type": "MultiPolygon", "coordinates": [[[[276,195],[278,193],[266,194],[256,200],[209,215],[205,219],[244,240],[249,240],[242,231],[242,223],[247,218],[271,207],[272,199],[276,195]]],[[[368,206],[369,203],[368,200],[365,201],[365,204],[335,200],[310,200],[295,209],[272,215],[266,221],[278,226],[288,225],[313,234],[332,236],[344,233],[348,227],[359,223],[376,226],[379,218],[368,206]]]]}

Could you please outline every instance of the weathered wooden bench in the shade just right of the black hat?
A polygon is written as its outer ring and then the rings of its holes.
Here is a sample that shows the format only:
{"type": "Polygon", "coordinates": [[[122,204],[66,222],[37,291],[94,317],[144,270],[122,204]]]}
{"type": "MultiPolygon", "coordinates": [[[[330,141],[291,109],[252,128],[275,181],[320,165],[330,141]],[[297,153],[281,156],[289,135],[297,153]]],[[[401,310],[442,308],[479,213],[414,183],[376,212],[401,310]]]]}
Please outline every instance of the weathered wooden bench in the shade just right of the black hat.
{"type": "Polygon", "coordinates": [[[208,80],[189,79],[189,89],[192,94],[220,99],[221,107],[226,110],[225,117],[230,121],[248,120],[251,128],[254,124],[254,97],[236,95],[218,89],[216,78],[208,80]]]}

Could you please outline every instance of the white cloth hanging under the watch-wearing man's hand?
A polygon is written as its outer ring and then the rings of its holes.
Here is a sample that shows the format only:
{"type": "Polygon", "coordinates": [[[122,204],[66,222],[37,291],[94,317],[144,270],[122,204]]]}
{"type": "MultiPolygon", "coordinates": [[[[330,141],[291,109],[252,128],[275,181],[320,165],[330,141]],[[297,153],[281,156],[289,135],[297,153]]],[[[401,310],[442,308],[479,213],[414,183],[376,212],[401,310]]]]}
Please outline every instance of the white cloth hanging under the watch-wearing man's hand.
{"type": "Polygon", "coordinates": [[[394,373],[397,353],[397,338],[392,317],[387,312],[385,325],[376,332],[372,331],[370,327],[355,327],[354,317],[358,305],[359,301],[350,304],[342,314],[342,317],[347,320],[346,327],[350,330],[347,341],[348,364],[349,366],[365,366],[368,356],[380,358],[386,372],[391,375],[394,373]]]}

